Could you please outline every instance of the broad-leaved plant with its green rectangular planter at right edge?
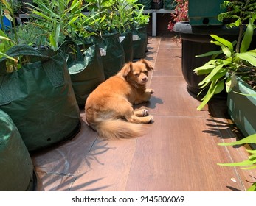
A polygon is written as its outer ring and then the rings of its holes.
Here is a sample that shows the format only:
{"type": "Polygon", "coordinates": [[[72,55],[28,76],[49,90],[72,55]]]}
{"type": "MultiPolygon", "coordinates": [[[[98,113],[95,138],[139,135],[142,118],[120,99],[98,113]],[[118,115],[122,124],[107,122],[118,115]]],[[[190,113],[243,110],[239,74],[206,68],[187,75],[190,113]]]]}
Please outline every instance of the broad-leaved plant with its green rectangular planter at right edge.
{"type": "MultiPolygon", "coordinates": [[[[252,1],[246,1],[241,7],[253,8],[252,1]]],[[[230,5],[230,4],[229,4],[230,5]]],[[[237,5],[236,5],[237,7],[237,5]]],[[[242,10],[242,8],[241,8],[242,10]]],[[[224,13],[221,16],[229,16],[224,13]]],[[[234,17],[234,15],[232,15],[234,17]]],[[[211,35],[212,43],[221,47],[221,51],[210,51],[201,56],[211,56],[212,60],[203,66],[195,68],[196,74],[207,75],[198,85],[206,89],[207,93],[202,99],[198,110],[201,110],[216,93],[226,87],[228,93],[229,115],[235,121],[243,135],[256,133],[255,123],[255,76],[256,76],[256,50],[250,49],[255,29],[256,15],[252,11],[246,15],[237,15],[236,21],[229,26],[238,26],[238,40],[230,42],[217,35],[211,35]],[[244,24],[246,21],[246,30],[244,24]],[[212,56],[213,55],[213,56],[212,56]],[[209,86],[209,87],[208,87],[209,86]],[[234,91],[234,92],[233,92],[234,91]],[[241,95],[243,93],[243,95],[241,95]],[[246,102],[242,102],[246,101],[246,102]],[[246,107],[244,106],[246,105],[246,107]]]]}

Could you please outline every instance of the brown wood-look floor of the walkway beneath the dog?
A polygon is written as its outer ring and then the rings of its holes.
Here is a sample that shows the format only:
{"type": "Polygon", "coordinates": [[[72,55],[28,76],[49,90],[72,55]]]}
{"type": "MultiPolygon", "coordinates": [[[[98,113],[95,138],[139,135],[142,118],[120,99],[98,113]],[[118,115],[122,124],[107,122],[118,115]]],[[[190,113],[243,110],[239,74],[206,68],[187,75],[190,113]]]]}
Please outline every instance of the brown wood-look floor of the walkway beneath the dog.
{"type": "Polygon", "coordinates": [[[226,118],[226,102],[198,111],[181,74],[181,45],[150,38],[147,59],[155,70],[148,85],[155,93],[146,104],[154,116],[147,135],[103,141],[87,127],[83,110],[79,134],[32,155],[38,191],[245,191],[256,172],[217,163],[247,158],[235,141],[238,132],[226,118]]]}

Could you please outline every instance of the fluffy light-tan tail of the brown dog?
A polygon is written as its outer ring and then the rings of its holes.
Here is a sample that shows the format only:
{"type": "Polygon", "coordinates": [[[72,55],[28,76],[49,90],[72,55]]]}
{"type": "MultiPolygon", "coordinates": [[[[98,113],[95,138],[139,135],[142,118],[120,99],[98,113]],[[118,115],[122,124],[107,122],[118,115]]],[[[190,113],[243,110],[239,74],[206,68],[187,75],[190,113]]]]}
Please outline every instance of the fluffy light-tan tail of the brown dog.
{"type": "Polygon", "coordinates": [[[144,135],[146,130],[144,124],[133,124],[121,119],[101,121],[94,129],[105,139],[136,138],[144,135]]]}

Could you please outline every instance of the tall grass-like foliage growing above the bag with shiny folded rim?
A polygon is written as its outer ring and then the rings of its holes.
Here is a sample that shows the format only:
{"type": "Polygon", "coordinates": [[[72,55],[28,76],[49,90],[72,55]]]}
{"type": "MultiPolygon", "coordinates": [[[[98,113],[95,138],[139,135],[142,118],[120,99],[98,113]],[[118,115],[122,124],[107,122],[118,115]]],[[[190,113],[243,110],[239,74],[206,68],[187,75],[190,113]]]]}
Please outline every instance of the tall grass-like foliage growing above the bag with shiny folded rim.
{"type": "Polygon", "coordinates": [[[66,37],[77,40],[79,35],[89,35],[85,32],[83,25],[88,22],[88,17],[83,15],[82,0],[34,0],[34,4],[26,3],[30,6],[30,24],[37,26],[44,31],[49,46],[52,50],[57,51],[60,43],[66,37]],[[36,21],[35,21],[36,20],[36,21]]]}

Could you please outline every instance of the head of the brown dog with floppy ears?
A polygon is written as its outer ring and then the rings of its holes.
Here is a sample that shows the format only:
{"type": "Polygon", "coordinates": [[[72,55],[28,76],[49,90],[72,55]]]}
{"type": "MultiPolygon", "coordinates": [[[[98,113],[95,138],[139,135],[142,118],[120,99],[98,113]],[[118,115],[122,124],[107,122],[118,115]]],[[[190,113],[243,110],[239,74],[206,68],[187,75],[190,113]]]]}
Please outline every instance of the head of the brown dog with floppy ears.
{"type": "Polygon", "coordinates": [[[125,78],[128,82],[145,85],[148,82],[148,71],[151,70],[153,70],[151,63],[142,59],[136,63],[126,63],[117,75],[125,78]]]}

